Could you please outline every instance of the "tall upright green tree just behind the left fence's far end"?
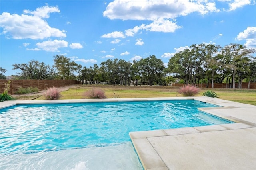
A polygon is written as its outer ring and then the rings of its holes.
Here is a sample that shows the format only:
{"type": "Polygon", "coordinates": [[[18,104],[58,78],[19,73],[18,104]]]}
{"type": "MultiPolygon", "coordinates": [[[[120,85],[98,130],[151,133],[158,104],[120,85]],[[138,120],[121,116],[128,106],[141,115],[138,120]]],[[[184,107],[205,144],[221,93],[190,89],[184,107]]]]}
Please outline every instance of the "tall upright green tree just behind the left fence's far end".
{"type": "Polygon", "coordinates": [[[74,61],[70,61],[70,58],[63,55],[54,56],[54,67],[58,70],[58,74],[61,79],[71,79],[75,77],[74,72],[79,72],[82,66],[76,64],[74,61]]]}

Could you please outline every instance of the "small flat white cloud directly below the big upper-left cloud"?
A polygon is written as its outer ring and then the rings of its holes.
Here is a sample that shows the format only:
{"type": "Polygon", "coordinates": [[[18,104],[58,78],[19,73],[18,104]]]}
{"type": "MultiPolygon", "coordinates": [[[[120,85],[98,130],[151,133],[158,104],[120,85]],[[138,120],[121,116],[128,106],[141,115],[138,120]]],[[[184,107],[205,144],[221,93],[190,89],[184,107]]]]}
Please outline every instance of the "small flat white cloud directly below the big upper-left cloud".
{"type": "Polygon", "coordinates": [[[42,43],[36,43],[38,49],[44,51],[56,52],[58,48],[68,47],[68,42],[64,40],[44,41],[42,43]]]}

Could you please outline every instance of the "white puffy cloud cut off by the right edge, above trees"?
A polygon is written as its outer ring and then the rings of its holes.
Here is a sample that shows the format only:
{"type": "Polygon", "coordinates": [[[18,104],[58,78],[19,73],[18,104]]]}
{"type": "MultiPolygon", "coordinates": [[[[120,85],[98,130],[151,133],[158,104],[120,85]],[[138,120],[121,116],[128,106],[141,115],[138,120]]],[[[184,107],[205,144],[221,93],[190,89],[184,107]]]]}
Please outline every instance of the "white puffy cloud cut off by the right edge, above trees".
{"type": "Polygon", "coordinates": [[[247,27],[246,30],[237,35],[236,39],[246,40],[245,45],[247,47],[256,47],[256,27],[247,27]]]}

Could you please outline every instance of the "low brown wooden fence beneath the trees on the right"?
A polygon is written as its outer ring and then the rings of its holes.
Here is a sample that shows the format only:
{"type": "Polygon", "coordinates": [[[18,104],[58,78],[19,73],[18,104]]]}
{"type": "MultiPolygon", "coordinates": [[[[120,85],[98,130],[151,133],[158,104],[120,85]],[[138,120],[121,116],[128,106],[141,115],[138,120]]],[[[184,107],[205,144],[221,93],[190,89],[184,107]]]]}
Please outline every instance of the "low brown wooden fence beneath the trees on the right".
{"type": "MultiPolygon", "coordinates": [[[[172,86],[175,86],[175,87],[182,87],[182,86],[185,86],[186,84],[183,84],[183,83],[172,83],[172,86]]],[[[202,88],[206,88],[206,83],[202,83],[202,84],[199,84],[199,88],[202,87],[202,88]]],[[[229,84],[226,84],[226,83],[214,83],[213,84],[214,88],[229,88],[229,84]]],[[[238,83],[236,83],[236,88],[238,87],[238,83]]],[[[209,83],[209,86],[208,88],[212,88],[212,84],[209,83]]],[[[248,83],[242,83],[242,88],[248,88],[248,83]]],[[[250,83],[250,89],[256,89],[256,83],[250,83]]]]}

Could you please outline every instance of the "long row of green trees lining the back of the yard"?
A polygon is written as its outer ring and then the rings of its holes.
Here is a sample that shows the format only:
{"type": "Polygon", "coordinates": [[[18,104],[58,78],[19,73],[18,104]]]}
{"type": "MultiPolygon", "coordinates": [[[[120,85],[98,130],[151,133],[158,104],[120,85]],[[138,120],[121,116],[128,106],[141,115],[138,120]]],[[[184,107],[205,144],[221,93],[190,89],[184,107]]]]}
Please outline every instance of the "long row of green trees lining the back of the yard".
{"type": "MultiPolygon", "coordinates": [[[[256,82],[256,62],[252,56],[255,52],[253,48],[235,43],[224,47],[202,43],[175,53],[167,67],[155,55],[132,63],[123,59],[108,59],[101,62],[100,66],[94,64],[88,68],[82,68],[68,57],[56,55],[52,67],[32,60],[28,64],[14,64],[13,69],[21,70],[21,78],[78,79],[86,84],[168,85],[176,78],[196,86],[211,83],[213,88],[214,82],[226,82],[226,88],[241,88],[243,81],[249,83],[248,87],[250,82],[256,82]]],[[[1,68],[0,76],[4,72],[6,70],[1,68]]]]}

